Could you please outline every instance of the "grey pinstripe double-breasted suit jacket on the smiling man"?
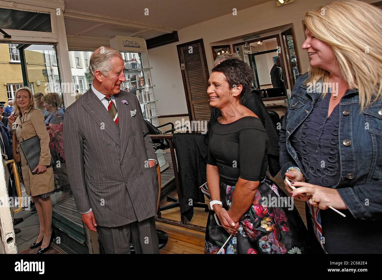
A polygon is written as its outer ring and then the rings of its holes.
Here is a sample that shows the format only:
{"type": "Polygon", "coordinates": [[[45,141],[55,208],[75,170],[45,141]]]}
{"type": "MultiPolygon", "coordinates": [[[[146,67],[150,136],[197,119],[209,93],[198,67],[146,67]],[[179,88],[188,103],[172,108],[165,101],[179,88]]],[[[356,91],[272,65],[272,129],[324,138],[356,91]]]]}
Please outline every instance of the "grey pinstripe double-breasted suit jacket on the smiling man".
{"type": "Polygon", "coordinates": [[[115,227],[155,216],[156,159],[134,94],[115,95],[118,123],[90,89],[65,110],[63,144],[78,211],[92,208],[99,226],[115,227]],[[122,104],[126,100],[128,104],[122,104]],[[130,110],[137,110],[131,117],[130,110]]]}

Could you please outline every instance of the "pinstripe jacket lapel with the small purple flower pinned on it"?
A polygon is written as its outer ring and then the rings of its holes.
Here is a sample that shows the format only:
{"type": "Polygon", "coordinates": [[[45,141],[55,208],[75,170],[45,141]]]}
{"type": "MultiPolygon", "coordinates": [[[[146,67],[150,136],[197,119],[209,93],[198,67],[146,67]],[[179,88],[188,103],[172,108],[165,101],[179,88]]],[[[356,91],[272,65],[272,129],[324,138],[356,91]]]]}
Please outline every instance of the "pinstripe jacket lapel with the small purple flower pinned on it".
{"type": "Polygon", "coordinates": [[[120,91],[119,94],[115,95],[115,106],[118,111],[118,123],[119,123],[119,131],[120,131],[120,152],[121,152],[121,160],[126,152],[126,147],[129,142],[129,131],[131,125],[131,117],[130,117],[130,101],[128,101],[127,94],[124,94],[123,91],[120,91]],[[123,104],[121,101],[125,99],[129,102],[129,104],[123,104]]]}

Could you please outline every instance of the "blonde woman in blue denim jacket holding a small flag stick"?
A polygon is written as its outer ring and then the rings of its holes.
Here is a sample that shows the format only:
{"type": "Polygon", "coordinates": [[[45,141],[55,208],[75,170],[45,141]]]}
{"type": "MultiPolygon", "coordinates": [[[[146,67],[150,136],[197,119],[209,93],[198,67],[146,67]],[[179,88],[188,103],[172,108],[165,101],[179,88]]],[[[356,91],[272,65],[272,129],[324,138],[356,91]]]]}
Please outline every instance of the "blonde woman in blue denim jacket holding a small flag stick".
{"type": "Polygon", "coordinates": [[[296,189],[285,186],[307,202],[313,253],[380,253],[382,11],[336,1],[305,22],[311,67],[283,120],[280,165],[296,189]]]}

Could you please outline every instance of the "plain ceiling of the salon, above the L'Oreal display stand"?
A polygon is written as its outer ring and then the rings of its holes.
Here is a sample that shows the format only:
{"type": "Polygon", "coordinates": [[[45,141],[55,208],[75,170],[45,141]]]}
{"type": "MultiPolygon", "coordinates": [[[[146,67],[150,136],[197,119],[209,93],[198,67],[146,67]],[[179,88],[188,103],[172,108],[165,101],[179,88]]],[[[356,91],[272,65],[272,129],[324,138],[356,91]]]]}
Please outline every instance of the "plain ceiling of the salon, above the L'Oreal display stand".
{"type": "Polygon", "coordinates": [[[64,0],[69,37],[157,37],[274,0],[64,0]],[[148,15],[145,15],[145,9],[148,15]],[[146,10],[147,11],[147,10],[146,10]]]}

